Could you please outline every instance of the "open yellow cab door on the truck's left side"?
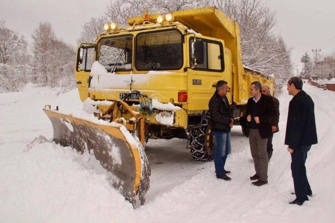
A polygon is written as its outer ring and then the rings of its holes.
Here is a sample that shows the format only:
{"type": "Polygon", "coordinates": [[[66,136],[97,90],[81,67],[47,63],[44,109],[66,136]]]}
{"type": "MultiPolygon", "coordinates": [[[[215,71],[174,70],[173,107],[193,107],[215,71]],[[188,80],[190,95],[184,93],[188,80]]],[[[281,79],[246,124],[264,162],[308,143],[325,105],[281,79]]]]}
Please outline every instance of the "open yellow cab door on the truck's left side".
{"type": "Polygon", "coordinates": [[[94,55],[95,44],[82,43],[77,48],[74,75],[81,101],[84,101],[88,97],[89,74],[94,62],[94,55]]]}

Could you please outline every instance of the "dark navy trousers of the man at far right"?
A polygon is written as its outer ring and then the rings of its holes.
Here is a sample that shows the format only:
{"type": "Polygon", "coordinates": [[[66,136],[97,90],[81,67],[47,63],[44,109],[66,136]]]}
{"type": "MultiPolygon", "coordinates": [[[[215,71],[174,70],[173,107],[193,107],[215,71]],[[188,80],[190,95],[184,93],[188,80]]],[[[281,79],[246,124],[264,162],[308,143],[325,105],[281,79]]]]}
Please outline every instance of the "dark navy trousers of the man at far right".
{"type": "Polygon", "coordinates": [[[291,170],[294,184],[294,192],[297,199],[308,200],[307,194],[311,194],[310,185],[306,175],[305,162],[307,152],[311,145],[300,146],[291,153],[291,170]]]}

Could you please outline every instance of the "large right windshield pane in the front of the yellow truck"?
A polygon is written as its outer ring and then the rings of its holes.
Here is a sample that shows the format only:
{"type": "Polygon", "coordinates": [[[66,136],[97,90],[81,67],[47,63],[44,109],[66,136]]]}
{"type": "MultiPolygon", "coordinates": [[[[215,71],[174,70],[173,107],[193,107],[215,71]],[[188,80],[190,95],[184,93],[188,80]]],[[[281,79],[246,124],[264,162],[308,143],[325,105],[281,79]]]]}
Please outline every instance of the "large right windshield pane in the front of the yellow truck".
{"type": "Polygon", "coordinates": [[[136,69],[180,69],[183,64],[181,38],[176,29],[139,33],[136,36],[136,69]]]}

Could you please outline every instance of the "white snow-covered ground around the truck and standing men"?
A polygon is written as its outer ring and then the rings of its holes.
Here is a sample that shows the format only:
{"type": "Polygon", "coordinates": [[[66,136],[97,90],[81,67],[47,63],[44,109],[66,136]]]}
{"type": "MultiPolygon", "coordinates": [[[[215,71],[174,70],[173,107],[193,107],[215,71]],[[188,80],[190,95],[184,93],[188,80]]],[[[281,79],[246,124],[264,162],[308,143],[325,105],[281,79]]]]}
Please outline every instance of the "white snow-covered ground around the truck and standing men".
{"type": "Polygon", "coordinates": [[[291,96],[284,90],[267,185],[250,184],[254,168],[239,126],[232,128],[229,182],[215,178],[213,162],[193,161],[186,140],[149,140],[151,185],[138,209],[109,186],[96,160],[51,142],[42,107],[80,109],[76,89],[59,93],[28,84],[20,92],[1,93],[0,222],[333,222],[335,92],[307,82],[303,88],[315,103],[319,140],[306,162],[314,196],[303,206],[288,204],[293,182],[283,141],[291,96]],[[34,139],[39,135],[45,139],[34,139]]]}

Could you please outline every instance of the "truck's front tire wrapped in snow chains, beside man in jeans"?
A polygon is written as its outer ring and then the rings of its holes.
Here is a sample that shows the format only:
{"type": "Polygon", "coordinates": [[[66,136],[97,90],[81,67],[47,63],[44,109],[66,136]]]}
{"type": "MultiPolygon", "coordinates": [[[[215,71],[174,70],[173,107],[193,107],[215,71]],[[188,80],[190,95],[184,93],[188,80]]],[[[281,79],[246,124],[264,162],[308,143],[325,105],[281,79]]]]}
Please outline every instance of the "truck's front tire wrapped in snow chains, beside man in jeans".
{"type": "Polygon", "coordinates": [[[214,140],[211,135],[209,120],[210,116],[207,113],[200,128],[192,129],[189,132],[189,144],[194,160],[207,162],[213,159],[214,140]]]}

